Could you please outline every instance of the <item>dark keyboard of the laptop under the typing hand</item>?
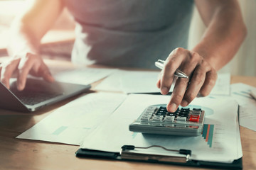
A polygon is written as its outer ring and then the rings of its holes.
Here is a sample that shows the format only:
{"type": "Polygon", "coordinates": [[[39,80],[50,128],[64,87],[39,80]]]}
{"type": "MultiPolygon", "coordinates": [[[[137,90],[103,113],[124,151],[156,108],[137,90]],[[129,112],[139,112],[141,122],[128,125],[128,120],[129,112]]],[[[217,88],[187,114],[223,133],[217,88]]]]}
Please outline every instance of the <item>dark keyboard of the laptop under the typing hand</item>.
{"type": "Polygon", "coordinates": [[[50,98],[60,96],[60,93],[46,93],[45,91],[12,91],[20,101],[25,105],[35,105],[37,103],[46,101],[50,98]]]}

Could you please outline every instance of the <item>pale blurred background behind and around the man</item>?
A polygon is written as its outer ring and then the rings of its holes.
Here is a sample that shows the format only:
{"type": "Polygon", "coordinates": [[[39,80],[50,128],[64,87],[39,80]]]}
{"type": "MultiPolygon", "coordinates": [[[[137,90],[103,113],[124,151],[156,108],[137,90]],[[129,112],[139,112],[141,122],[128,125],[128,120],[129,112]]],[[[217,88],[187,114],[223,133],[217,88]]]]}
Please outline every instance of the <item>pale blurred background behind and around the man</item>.
{"type": "MultiPolygon", "coordinates": [[[[242,16],[247,26],[247,38],[233,60],[220,72],[230,72],[232,75],[256,76],[256,0],[238,0],[242,16]]],[[[26,6],[26,0],[0,0],[0,57],[7,55],[8,30],[14,16],[26,6]]],[[[71,50],[75,39],[75,23],[68,11],[64,10],[55,26],[42,40],[41,53],[45,58],[70,60],[71,50]]],[[[191,49],[200,40],[206,27],[204,26],[196,8],[188,40],[191,49]]]]}

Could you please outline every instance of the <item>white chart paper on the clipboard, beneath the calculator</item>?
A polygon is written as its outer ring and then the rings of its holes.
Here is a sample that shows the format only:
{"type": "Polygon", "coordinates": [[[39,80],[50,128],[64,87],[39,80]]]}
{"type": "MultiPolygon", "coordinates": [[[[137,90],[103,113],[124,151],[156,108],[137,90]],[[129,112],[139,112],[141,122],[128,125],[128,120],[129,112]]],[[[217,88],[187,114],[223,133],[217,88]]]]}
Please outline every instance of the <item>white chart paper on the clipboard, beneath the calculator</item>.
{"type": "MultiPolygon", "coordinates": [[[[238,125],[238,103],[232,98],[196,98],[191,107],[206,111],[202,135],[181,137],[130,132],[129,124],[136,120],[147,106],[167,103],[169,96],[131,94],[108,120],[85,137],[80,146],[107,152],[119,152],[123,145],[149,147],[161,145],[168,149],[191,149],[193,160],[233,162],[242,157],[238,125]]],[[[151,153],[159,153],[152,148],[151,153]]]]}

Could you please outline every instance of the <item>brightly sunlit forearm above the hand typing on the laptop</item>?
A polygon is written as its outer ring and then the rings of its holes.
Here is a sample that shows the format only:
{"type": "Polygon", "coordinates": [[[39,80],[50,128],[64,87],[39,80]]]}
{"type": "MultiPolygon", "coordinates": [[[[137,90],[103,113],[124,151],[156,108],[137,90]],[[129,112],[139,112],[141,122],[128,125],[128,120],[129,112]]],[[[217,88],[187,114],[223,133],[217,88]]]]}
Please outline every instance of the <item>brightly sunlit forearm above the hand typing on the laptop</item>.
{"type": "Polygon", "coordinates": [[[28,8],[11,25],[10,55],[38,53],[41,38],[57,20],[63,4],[60,0],[31,0],[28,8]]]}

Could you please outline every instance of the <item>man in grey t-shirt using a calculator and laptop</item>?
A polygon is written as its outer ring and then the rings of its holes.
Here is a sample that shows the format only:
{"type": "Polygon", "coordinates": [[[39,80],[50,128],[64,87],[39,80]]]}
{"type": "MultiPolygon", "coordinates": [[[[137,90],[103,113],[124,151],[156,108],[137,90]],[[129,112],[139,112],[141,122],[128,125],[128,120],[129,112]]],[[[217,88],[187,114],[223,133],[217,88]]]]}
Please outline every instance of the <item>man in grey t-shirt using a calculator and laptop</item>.
{"type": "Polygon", "coordinates": [[[189,80],[176,80],[167,105],[174,112],[198,94],[210,94],[216,71],[233,58],[246,35],[237,1],[194,2],[207,29],[196,47],[186,50],[191,0],[33,0],[11,26],[11,58],[1,64],[1,81],[9,88],[14,72],[18,90],[28,73],[53,81],[38,47],[66,6],[77,22],[74,62],[149,68],[157,59],[166,60],[157,81],[161,94],[169,92],[176,69],[188,75],[189,80]]]}

